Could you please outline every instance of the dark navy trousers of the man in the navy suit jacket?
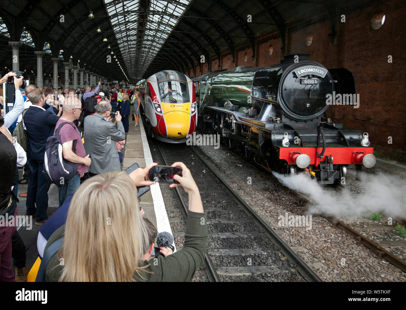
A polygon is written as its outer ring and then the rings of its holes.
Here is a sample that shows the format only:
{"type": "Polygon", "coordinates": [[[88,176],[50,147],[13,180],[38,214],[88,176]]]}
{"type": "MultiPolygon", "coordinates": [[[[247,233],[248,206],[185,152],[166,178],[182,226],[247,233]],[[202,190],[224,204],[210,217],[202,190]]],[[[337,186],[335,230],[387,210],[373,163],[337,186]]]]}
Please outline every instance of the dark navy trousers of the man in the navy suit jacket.
{"type": "Polygon", "coordinates": [[[30,158],[28,165],[30,166],[31,175],[28,181],[26,215],[34,215],[37,213],[35,220],[39,222],[48,218],[48,190],[50,189],[50,184],[48,184],[42,174],[44,170],[43,160],[30,158]]]}

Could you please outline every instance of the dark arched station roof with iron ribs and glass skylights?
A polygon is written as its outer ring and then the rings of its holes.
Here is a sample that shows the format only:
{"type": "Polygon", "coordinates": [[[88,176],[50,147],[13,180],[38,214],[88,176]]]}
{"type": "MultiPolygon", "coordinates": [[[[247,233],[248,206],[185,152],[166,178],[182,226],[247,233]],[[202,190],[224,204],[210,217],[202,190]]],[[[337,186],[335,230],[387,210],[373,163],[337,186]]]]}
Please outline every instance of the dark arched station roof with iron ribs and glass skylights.
{"type": "Polygon", "coordinates": [[[189,65],[201,64],[202,56],[206,62],[212,57],[220,60],[225,50],[234,62],[235,48],[241,45],[251,47],[254,56],[255,37],[272,29],[284,44],[287,21],[306,26],[301,17],[312,12],[322,12],[314,22],[335,18],[336,2],[2,0],[0,71],[11,68],[8,42],[20,41],[20,70],[35,73],[34,51],[45,51],[45,75],[52,75],[51,58],[58,57],[60,66],[71,62],[136,83],[164,69],[187,72],[189,65]]]}

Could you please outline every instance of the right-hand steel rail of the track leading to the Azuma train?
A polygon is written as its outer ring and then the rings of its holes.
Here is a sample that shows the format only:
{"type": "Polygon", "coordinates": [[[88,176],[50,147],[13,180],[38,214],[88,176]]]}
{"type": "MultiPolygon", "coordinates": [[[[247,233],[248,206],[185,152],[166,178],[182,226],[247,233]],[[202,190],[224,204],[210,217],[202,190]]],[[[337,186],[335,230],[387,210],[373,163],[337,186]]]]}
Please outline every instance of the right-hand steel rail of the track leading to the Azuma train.
{"type": "Polygon", "coordinates": [[[235,201],[242,207],[242,209],[253,218],[253,221],[260,227],[260,229],[265,233],[265,235],[280,248],[281,252],[287,257],[287,259],[296,265],[296,268],[308,282],[323,282],[322,279],[315,274],[315,272],[296,254],[292,248],[290,248],[277,233],[242,199],[222,177],[211,168],[209,163],[194,150],[194,148],[189,147],[192,152],[199,158],[199,160],[207,166],[213,175],[220,181],[221,185],[224,186],[229,194],[235,199],[235,201]]]}

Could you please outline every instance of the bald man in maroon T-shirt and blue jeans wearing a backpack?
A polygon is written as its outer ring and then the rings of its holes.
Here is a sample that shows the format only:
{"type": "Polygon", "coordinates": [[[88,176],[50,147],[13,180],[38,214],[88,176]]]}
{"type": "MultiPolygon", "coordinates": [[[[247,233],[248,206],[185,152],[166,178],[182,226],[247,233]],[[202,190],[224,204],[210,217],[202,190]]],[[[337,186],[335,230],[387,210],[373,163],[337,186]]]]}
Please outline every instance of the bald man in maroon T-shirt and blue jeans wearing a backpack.
{"type": "Polygon", "coordinates": [[[59,129],[63,158],[78,167],[78,174],[70,182],[62,182],[63,184],[59,187],[59,207],[76,192],[80,185],[80,177],[87,172],[87,167],[91,164],[90,156],[86,156],[79,130],[73,123],[79,118],[81,112],[80,100],[76,97],[68,97],[63,103],[63,114],[55,125],[54,133],[63,125],[59,129]]]}

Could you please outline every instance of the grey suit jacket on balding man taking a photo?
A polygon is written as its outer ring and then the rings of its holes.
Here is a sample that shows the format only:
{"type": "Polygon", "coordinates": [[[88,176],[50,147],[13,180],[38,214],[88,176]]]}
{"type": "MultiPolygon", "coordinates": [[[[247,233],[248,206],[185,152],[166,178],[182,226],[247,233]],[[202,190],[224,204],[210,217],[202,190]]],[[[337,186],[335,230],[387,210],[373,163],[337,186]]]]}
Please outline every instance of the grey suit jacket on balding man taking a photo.
{"type": "Polygon", "coordinates": [[[120,171],[120,159],[116,141],[125,139],[122,122],[108,122],[100,114],[88,115],[84,118],[84,149],[90,154],[91,173],[120,171]],[[117,128],[116,128],[117,125],[117,128]]]}

